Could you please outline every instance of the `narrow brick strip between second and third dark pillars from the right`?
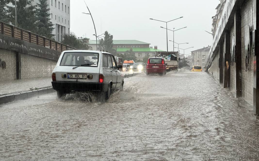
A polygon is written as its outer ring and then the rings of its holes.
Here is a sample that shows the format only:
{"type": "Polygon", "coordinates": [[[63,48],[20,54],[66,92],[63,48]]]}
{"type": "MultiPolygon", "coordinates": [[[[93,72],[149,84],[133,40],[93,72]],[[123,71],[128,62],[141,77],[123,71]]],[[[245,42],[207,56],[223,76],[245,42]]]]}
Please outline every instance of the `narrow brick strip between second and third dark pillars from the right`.
{"type": "MultiPolygon", "coordinates": [[[[235,28],[234,28],[234,24],[233,24],[233,26],[231,27],[231,29],[230,29],[230,51],[231,51],[231,54],[232,54],[232,48],[233,48],[233,45],[234,44],[232,44],[232,40],[235,38],[234,37],[234,35],[235,35],[235,28]]],[[[231,56],[231,54],[230,54],[230,56],[231,56]]],[[[233,63],[233,65],[232,65],[232,63],[230,63],[230,89],[232,90],[232,91],[234,91],[234,93],[236,93],[236,63],[233,63]]]]}

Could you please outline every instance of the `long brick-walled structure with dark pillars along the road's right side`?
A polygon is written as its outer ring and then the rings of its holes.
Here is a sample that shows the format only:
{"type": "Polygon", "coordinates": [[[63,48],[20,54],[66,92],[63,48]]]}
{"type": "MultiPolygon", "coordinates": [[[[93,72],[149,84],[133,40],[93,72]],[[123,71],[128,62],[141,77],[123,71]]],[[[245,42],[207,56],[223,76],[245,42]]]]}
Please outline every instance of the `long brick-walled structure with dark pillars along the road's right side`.
{"type": "Polygon", "coordinates": [[[259,1],[226,0],[216,29],[208,72],[259,115],[259,1]]]}

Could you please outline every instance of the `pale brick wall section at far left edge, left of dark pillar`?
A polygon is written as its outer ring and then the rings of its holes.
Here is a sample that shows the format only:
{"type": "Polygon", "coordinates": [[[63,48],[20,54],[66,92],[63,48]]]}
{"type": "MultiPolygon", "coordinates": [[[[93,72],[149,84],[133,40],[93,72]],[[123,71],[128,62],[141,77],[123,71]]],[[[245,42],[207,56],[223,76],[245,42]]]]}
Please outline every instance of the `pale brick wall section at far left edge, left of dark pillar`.
{"type": "Polygon", "coordinates": [[[16,52],[0,49],[0,59],[6,63],[6,69],[0,68],[0,81],[16,79],[16,52]]]}

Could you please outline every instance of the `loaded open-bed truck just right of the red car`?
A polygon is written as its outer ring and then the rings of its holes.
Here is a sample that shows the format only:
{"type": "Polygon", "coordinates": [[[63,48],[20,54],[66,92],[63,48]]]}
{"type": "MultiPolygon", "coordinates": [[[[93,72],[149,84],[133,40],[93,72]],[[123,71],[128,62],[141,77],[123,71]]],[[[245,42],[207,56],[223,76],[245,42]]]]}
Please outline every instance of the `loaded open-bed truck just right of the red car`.
{"type": "Polygon", "coordinates": [[[165,59],[167,72],[178,71],[178,61],[180,60],[178,51],[159,51],[156,52],[156,56],[165,59]]]}

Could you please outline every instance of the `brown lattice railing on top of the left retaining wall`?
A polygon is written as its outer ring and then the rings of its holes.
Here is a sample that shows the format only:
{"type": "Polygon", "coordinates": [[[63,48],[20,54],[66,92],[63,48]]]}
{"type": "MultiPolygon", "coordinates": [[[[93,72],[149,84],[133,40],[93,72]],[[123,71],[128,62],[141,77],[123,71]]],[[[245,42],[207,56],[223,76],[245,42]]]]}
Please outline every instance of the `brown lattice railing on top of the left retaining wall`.
{"type": "Polygon", "coordinates": [[[15,39],[23,40],[29,43],[33,43],[36,45],[40,45],[42,47],[46,47],[59,52],[62,52],[68,49],[76,49],[76,48],[70,47],[69,45],[62,44],[60,42],[48,39],[44,36],[37,35],[30,31],[21,29],[19,27],[15,27],[10,24],[6,24],[1,21],[0,21],[0,34],[10,36],[15,39]]]}

